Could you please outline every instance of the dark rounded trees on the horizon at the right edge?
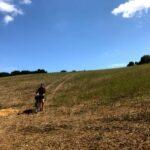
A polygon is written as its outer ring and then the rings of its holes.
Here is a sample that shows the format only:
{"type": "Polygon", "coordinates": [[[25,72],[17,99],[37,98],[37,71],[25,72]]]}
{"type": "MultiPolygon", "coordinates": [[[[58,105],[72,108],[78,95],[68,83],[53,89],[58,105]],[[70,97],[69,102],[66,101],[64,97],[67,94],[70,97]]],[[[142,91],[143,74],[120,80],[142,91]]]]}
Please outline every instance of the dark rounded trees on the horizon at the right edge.
{"type": "Polygon", "coordinates": [[[147,64],[150,63],[150,55],[144,55],[141,57],[139,62],[133,62],[130,61],[127,65],[127,67],[135,66],[135,65],[142,65],[142,64],[147,64]]]}

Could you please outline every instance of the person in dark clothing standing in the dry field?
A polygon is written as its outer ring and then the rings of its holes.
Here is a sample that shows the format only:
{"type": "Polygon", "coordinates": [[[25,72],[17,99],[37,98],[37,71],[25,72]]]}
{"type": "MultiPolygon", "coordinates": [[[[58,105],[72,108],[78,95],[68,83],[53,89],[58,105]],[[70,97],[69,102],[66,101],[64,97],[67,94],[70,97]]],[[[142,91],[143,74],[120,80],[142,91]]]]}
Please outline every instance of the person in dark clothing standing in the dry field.
{"type": "Polygon", "coordinates": [[[36,96],[35,96],[36,107],[39,104],[40,105],[40,111],[43,111],[43,109],[44,109],[45,93],[46,93],[45,86],[43,83],[41,83],[40,87],[36,91],[36,96]]]}

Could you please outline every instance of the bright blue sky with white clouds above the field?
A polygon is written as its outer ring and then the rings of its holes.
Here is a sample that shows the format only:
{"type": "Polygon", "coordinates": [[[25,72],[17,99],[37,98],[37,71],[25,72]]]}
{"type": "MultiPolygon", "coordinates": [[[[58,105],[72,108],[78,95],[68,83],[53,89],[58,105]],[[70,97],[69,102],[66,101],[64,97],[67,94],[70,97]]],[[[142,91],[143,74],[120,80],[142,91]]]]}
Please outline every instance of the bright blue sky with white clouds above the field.
{"type": "Polygon", "coordinates": [[[0,71],[91,70],[138,61],[150,54],[150,1],[144,1],[0,0],[0,71]]]}

